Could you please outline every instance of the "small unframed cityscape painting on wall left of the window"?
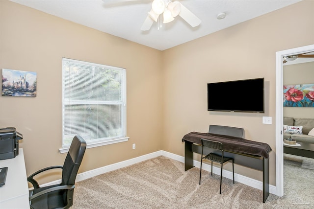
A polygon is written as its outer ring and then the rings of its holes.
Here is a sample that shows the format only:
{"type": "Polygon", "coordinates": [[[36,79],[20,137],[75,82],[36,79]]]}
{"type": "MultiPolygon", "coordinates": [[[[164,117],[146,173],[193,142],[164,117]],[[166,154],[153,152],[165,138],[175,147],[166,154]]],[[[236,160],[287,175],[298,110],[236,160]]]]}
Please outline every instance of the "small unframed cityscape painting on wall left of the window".
{"type": "Polygon", "coordinates": [[[2,96],[36,96],[37,73],[2,69],[2,96]]]}

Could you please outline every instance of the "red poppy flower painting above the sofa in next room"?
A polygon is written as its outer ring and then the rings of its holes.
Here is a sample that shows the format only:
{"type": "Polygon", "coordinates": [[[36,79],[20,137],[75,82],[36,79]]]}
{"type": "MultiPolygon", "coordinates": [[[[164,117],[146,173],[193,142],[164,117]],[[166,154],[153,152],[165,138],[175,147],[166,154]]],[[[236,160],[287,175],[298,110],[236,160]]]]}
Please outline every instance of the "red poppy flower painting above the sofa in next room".
{"type": "Polygon", "coordinates": [[[314,107],[314,84],[284,86],[284,107],[314,107]]]}

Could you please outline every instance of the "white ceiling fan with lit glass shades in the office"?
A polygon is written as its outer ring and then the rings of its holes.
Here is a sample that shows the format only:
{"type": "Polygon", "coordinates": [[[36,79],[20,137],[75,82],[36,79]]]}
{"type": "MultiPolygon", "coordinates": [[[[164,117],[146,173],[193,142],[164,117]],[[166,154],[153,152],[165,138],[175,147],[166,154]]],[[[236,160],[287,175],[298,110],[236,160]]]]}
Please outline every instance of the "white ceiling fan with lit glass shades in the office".
{"type": "Polygon", "coordinates": [[[152,8],[148,12],[148,15],[141,27],[141,30],[150,30],[153,23],[161,21],[162,23],[170,23],[178,15],[192,27],[196,27],[201,23],[201,20],[196,17],[190,10],[188,10],[182,3],[178,0],[103,0],[104,2],[120,1],[120,2],[130,2],[130,1],[147,1],[152,2],[152,8]]]}

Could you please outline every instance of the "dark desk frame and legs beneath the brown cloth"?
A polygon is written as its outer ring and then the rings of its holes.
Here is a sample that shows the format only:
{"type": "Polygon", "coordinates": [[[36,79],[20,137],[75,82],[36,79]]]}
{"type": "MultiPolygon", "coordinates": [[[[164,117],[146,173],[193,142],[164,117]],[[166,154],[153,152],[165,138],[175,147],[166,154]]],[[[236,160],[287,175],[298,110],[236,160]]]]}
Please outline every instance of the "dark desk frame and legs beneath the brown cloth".
{"type": "MultiPolygon", "coordinates": [[[[202,146],[200,143],[195,143],[192,141],[184,140],[184,166],[185,171],[192,168],[193,165],[193,153],[202,154],[202,146]]],[[[207,155],[209,152],[212,152],[208,148],[204,148],[204,155],[207,155]]],[[[270,148],[271,151],[271,148],[270,148]]],[[[270,152],[269,151],[269,152],[270,152]]],[[[269,195],[269,159],[265,157],[258,157],[255,155],[243,154],[236,152],[235,150],[230,151],[226,150],[224,156],[232,157],[235,159],[236,164],[247,166],[253,169],[262,171],[263,173],[263,203],[265,203],[269,195]]]]}

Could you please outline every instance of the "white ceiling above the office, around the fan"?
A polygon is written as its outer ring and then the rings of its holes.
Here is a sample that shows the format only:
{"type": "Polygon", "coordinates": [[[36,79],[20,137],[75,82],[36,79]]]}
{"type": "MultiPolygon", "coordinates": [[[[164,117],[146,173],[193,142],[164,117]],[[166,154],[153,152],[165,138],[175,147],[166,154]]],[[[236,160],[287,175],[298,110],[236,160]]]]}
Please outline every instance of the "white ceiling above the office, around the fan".
{"type": "Polygon", "coordinates": [[[181,0],[202,23],[191,27],[180,16],[158,29],[141,26],[151,10],[148,0],[10,0],[132,42],[165,50],[301,0],[181,0]],[[224,12],[226,18],[217,20],[224,12]]]}

